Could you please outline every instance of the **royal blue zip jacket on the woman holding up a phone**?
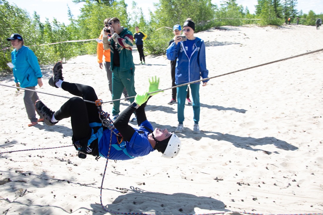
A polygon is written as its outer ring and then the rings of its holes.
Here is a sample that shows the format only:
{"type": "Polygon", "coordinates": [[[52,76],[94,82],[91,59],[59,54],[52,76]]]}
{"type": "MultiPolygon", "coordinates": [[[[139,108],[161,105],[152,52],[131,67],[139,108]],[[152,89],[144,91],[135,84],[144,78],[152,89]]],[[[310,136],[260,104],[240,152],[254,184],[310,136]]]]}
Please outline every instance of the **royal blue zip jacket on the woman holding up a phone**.
{"type": "MultiPolygon", "coordinates": [[[[175,60],[177,57],[175,69],[175,84],[177,85],[200,80],[200,77],[207,78],[209,74],[206,69],[204,41],[196,37],[191,57],[186,54],[185,42],[181,41],[177,45],[173,42],[166,50],[167,59],[175,60]]],[[[200,84],[200,82],[195,84],[200,84]]]]}

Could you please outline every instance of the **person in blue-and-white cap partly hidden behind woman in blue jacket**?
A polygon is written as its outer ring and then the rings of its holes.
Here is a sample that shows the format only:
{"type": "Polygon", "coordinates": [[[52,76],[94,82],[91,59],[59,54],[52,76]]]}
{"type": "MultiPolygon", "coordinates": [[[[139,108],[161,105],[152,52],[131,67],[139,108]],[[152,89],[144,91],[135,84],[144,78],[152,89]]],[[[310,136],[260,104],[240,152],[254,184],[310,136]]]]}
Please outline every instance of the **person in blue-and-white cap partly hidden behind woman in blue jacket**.
{"type": "MultiPolygon", "coordinates": [[[[173,26],[173,33],[175,36],[180,36],[182,34],[182,28],[181,25],[174,25],[173,26]]],[[[171,41],[169,41],[168,46],[170,46],[172,44],[172,42],[174,42],[173,39],[171,39],[171,41]]],[[[171,75],[172,75],[172,87],[176,86],[175,84],[175,67],[176,67],[176,60],[177,57],[175,58],[175,60],[171,60],[171,75]]],[[[192,101],[190,99],[190,90],[187,89],[187,94],[186,94],[186,100],[187,103],[189,105],[192,104],[192,101]]],[[[175,104],[176,102],[176,88],[172,88],[172,100],[170,102],[168,102],[169,105],[175,104]]]]}

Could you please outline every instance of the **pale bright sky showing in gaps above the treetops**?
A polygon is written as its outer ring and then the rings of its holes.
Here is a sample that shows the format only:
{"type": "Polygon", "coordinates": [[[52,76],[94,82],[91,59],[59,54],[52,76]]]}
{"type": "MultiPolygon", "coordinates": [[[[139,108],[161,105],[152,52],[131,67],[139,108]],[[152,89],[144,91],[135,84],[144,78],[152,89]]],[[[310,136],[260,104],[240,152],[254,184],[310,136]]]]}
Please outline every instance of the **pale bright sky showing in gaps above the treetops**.
{"type": "MultiPolygon", "coordinates": [[[[10,4],[16,4],[22,9],[26,9],[30,15],[37,12],[40,15],[42,22],[45,22],[45,19],[48,18],[50,21],[55,17],[59,22],[64,22],[69,24],[67,16],[67,5],[70,7],[72,14],[75,18],[80,14],[79,9],[82,7],[82,3],[75,4],[72,0],[7,0],[10,4]]],[[[125,0],[128,5],[128,12],[132,6],[132,0],[125,0]]],[[[139,1],[136,0],[137,6],[141,7],[145,18],[148,18],[149,9],[154,10],[153,3],[159,2],[159,0],[150,0],[150,1],[139,1]]],[[[220,5],[223,0],[212,0],[213,4],[220,5]]],[[[243,5],[248,7],[250,13],[254,13],[255,5],[257,0],[236,0],[238,5],[243,5]]],[[[298,0],[297,9],[303,10],[303,13],[308,13],[309,10],[313,10],[316,14],[323,13],[323,3],[322,0],[298,0]]]]}

